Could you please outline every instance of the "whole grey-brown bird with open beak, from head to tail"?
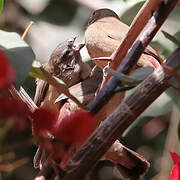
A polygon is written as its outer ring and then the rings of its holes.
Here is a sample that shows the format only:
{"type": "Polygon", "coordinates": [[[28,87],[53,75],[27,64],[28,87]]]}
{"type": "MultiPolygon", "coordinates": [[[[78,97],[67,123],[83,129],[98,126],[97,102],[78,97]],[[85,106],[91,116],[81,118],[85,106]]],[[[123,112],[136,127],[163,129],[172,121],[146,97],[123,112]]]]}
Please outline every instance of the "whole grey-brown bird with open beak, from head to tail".
{"type": "MultiPolygon", "coordinates": [[[[61,42],[52,52],[49,61],[42,65],[52,76],[63,80],[67,87],[71,87],[81,80],[88,78],[91,73],[90,66],[82,61],[80,55],[80,50],[84,47],[84,44],[75,45],[75,40],[76,37],[61,42]]],[[[65,114],[62,115],[60,112],[62,108],[61,103],[54,103],[59,95],[59,92],[52,85],[40,79],[36,80],[34,103],[39,108],[53,109],[53,111],[56,111],[63,118],[65,114]]],[[[42,121],[39,122],[42,123],[42,121]]],[[[32,129],[35,138],[39,139],[34,125],[32,129]]],[[[34,167],[40,169],[48,158],[47,150],[41,145],[41,141],[43,141],[42,138],[40,142],[38,141],[40,146],[34,157],[34,167]]]]}

